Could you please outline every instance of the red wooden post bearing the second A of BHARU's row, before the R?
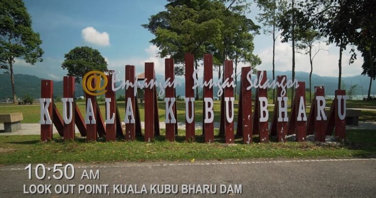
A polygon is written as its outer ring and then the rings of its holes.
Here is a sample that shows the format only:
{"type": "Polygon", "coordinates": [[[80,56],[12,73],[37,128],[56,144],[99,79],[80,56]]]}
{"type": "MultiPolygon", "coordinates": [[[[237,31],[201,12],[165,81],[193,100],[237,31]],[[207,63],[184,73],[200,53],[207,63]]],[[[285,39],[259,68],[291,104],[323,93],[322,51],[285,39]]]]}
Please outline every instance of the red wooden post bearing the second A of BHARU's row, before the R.
{"type": "Polygon", "coordinates": [[[303,105],[305,110],[305,82],[298,82],[299,87],[296,89],[295,92],[295,115],[294,117],[290,117],[290,119],[294,119],[295,121],[295,134],[296,134],[296,140],[297,141],[305,141],[306,133],[305,133],[305,124],[306,124],[306,117],[302,115],[298,115],[299,113],[299,106],[301,97],[303,97],[303,105]],[[300,117],[300,120],[298,120],[298,116],[300,117]]]}

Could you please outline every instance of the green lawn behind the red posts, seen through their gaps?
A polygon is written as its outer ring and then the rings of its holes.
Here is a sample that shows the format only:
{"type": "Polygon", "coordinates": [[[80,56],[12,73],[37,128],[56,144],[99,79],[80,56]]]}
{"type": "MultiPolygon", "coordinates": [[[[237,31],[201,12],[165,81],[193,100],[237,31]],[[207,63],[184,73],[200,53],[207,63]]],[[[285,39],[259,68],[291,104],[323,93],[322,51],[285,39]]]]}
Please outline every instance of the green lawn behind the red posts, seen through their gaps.
{"type": "MultiPolygon", "coordinates": [[[[332,100],[327,100],[327,107],[330,107],[332,100]]],[[[105,116],[105,103],[104,102],[98,102],[101,114],[104,118],[105,116]]],[[[269,103],[271,104],[272,101],[269,100],[269,103]]],[[[118,109],[120,113],[121,119],[125,116],[125,102],[124,101],[118,101],[118,109]]],[[[290,101],[288,102],[290,104],[290,101]]],[[[77,105],[82,113],[83,116],[86,114],[86,106],[84,101],[77,102],[77,105]]],[[[310,105],[310,103],[307,101],[307,106],[310,105]]],[[[56,103],[57,108],[59,109],[60,113],[62,113],[63,104],[61,102],[56,103]]],[[[347,101],[347,107],[356,107],[356,108],[371,108],[376,109],[376,101],[360,101],[360,100],[348,100],[347,101]],[[367,106],[368,105],[368,106],[367,106]]],[[[144,103],[139,103],[140,108],[140,114],[141,114],[141,121],[144,120],[145,110],[144,110],[144,103]]],[[[254,105],[252,106],[254,109],[254,105]]],[[[271,120],[273,116],[273,106],[269,106],[269,120],[271,120]]],[[[185,121],[185,102],[184,101],[177,101],[177,120],[180,122],[185,121]]],[[[238,112],[238,104],[237,101],[234,104],[235,109],[235,121],[237,120],[237,112],[238,112]]],[[[290,112],[290,108],[288,108],[288,112],[290,112]]],[[[308,116],[310,111],[310,108],[306,108],[306,114],[308,116]]],[[[9,105],[3,105],[0,106],[0,113],[17,113],[22,112],[24,116],[24,120],[22,123],[39,123],[40,119],[40,106],[39,105],[16,105],[16,106],[9,106],[9,105]]],[[[158,113],[159,113],[159,120],[164,121],[165,119],[165,105],[164,102],[159,101],[158,102],[158,113]]],[[[195,120],[196,122],[202,122],[202,115],[203,115],[203,102],[195,101],[195,120]]],[[[214,121],[218,122],[220,119],[220,101],[216,100],[214,101],[214,121]]],[[[362,111],[362,116],[359,118],[361,121],[376,121],[376,111],[362,111]]]]}

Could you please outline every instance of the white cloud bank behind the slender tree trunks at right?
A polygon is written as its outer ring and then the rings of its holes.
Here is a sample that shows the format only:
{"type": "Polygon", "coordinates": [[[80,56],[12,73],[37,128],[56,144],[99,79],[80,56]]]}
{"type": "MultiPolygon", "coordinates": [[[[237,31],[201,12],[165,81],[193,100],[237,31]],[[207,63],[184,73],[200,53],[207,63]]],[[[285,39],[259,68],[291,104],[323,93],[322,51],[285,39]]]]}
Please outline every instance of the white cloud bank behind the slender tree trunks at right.
{"type": "MultiPolygon", "coordinates": [[[[316,46],[318,46],[316,44],[316,46]]],[[[339,48],[320,43],[321,50],[313,59],[313,74],[320,76],[338,77],[339,48]]],[[[267,47],[257,53],[262,60],[258,70],[272,70],[273,48],[267,47]]],[[[357,52],[359,54],[359,52],[357,52]]],[[[349,77],[360,75],[362,72],[362,59],[358,58],[353,64],[349,64],[349,50],[342,53],[342,76],[349,77]]],[[[289,71],[292,65],[292,47],[290,43],[282,43],[280,38],[276,40],[275,69],[276,71],[289,71]]],[[[295,51],[295,71],[310,72],[309,56],[295,51]]]]}

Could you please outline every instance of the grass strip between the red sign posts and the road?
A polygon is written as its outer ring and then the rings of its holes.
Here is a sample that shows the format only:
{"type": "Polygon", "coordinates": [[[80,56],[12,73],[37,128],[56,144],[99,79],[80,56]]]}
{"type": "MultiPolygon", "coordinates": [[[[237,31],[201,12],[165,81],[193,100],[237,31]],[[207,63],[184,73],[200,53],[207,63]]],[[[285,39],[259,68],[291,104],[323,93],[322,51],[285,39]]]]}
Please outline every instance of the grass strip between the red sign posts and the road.
{"type": "MultiPolygon", "coordinates": [[[[39,135],[0,136],[0,164],[19,163],[64,163],[64,162],[118,162],[118,161],[188,161],[254,159],[254,158],[369,158],[376,156],[376,131],[348,130],[347,142],[336,145],[315,142],[252,143],[226,145],[215,131],[215,142],[203,143],[196,131],[196,142],[184,141],[180,130],[175,142],[168,142],[161,136],[154,141],[87,142],[85,138],[64,142],[58,135],[54,141],[42,143],[39,135]]],[[[255,141],[258,138],[254,137],[255,141]]],[[[273,141],[273,139],[272,139],[273,141]]]]}

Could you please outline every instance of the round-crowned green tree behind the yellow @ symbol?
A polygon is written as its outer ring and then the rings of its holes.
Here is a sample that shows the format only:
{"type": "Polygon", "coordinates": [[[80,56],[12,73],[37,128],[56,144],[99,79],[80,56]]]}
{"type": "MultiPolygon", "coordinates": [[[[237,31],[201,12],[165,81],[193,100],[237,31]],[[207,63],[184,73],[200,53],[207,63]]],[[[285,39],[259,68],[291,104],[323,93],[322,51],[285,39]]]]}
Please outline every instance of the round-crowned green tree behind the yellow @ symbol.
{"type": "Polygon", "coordinates": [[[107,62],[100,52],[91,47],[75,47],[68,54],[64,55],[65,60],[61,64],[63,69],[68,70],[68,76],[76,78],[76,82],[80,81],[86,73],[97,70],[106,71],[107,62]]]}

